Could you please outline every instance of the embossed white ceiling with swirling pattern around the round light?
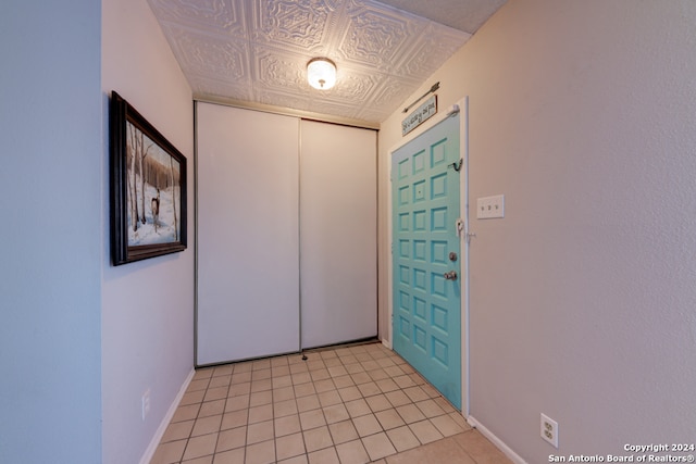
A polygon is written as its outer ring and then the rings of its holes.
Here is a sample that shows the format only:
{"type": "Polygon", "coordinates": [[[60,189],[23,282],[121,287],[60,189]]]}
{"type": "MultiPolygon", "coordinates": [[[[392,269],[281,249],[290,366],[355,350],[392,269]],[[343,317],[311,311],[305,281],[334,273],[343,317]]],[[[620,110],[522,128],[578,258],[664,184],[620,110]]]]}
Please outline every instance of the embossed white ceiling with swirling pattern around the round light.
{"type": "Polygon", "coordinates": [[[368,126],[394,113],[506,1],[148,0],[195,98],[368,126]],[[314,57],[337,65],[330,90],[307,83],[314,57]]]}

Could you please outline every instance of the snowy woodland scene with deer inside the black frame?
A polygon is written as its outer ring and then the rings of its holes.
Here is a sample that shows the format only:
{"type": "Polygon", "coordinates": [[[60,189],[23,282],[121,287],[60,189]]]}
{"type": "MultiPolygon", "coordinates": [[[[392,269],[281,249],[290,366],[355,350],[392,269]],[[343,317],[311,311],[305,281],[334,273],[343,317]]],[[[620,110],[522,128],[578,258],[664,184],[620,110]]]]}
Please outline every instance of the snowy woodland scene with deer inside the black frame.
{"type": "Polygon", "coordinates": [[[179,163],[140,129],[126,125],[128,246],[179,240],[179,163]]]}

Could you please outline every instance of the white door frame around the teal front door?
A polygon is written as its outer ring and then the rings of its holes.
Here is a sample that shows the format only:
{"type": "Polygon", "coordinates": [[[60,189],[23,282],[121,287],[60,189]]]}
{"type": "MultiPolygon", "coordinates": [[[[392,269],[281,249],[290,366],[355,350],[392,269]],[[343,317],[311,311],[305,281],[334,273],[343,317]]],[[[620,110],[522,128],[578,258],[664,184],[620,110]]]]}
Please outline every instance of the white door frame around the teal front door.
{"type": "MultiPolygon", "coordinates": [[[[463,250],[462,267],[462,290],[461,298],[461,413],[467,418],[469,417],[470,404],[469,404],[469,236],[470,223],[469,223],[469,97],[464,97],[459,100],[455,105],[450,106],[445,114],[435,116],[435,124],[431,128],[450,115],[457,113],[460,114],[459,118],[459,153],[462,159],[462,171],[460,175],[460,212],[459,217],[464,220],[464,229],[461,234],[461,249],[463,250]]],[[[420,134],[419,134],[420,135],[420,134]]],[[[418,136],[417,136],[418,137],[418,136]]],[[[413,137],[414,138],[414,137],[413,137]]],[[[406,141],[401,141],[397,146],[389,150],[389,179],[391,178],[391,156],[394,153],[413,140],[409,138],[406,141]]],[[[389,188],[387,189],[387,234],[389,236],[389,265],[387,266],[387,311],[388,311],[388,334],[389,342],[385,343],[389,349],[393,349],[394,341],[394,261],[391,254],[394,253],[393,233],[394,225],[391,221],[391,184],[389,181],[389,188]]]]}

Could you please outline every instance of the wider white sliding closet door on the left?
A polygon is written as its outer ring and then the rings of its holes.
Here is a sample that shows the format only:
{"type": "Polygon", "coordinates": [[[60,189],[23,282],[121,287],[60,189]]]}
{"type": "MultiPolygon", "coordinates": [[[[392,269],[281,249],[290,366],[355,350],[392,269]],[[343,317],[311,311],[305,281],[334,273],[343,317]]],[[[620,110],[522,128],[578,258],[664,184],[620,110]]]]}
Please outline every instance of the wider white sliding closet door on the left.
{"type": "Polygon", "coordinates": [[[197,103],[197,365],[299,350],[299,120],[197,103]]]}

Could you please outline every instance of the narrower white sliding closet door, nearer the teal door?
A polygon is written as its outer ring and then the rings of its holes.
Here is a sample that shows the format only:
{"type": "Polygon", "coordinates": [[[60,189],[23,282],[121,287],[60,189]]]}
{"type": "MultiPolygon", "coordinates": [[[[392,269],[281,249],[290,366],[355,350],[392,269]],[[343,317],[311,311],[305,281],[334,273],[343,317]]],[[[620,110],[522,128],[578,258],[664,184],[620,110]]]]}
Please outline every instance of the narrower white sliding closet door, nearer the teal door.
{"type": "Polygon", "coordinates": [[[301,122],[302,348],[377,335],[376,131],[301,122]]]}

